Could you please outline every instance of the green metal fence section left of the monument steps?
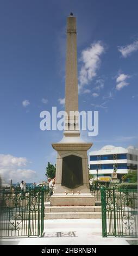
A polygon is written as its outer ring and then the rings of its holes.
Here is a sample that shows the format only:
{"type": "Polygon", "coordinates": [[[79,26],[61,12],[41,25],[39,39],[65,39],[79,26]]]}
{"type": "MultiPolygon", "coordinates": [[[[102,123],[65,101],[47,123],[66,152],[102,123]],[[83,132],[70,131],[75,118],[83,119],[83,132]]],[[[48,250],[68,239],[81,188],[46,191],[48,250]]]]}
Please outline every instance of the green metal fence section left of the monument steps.
{"type": "Polygon", "coordinates": [[[1,192],[1,237],[42,236],[44,190],[1,192]]]}

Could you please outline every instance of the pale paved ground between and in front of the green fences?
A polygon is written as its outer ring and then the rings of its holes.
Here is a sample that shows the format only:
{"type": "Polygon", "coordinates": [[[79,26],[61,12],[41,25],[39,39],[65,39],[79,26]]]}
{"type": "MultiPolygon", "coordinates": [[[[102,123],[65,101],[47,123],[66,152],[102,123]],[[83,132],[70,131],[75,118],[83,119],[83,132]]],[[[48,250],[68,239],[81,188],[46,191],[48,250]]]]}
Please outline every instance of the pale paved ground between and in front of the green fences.
{"type": "Polygon", "coordinates": [[[43,237],[2,239],[1,245],[134,245],[137,239],[102,237],[101,220],[45,220],[43,237]]]}

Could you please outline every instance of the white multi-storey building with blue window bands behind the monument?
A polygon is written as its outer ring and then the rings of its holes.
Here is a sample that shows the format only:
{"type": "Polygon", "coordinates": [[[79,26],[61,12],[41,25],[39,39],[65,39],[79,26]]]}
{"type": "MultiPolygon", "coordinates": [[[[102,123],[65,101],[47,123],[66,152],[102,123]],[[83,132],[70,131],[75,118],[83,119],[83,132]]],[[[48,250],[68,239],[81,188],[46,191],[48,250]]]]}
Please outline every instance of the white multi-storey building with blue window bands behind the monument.
{"type": "Polygon", "coordinates": [[[106,145],[100,150],[89,153],[90,174],[98,176],[111,176],[114,168],[117,178],[121,180],[128,170],[137,170],[138,149],[130,146],[127,149],[106,145]]]}

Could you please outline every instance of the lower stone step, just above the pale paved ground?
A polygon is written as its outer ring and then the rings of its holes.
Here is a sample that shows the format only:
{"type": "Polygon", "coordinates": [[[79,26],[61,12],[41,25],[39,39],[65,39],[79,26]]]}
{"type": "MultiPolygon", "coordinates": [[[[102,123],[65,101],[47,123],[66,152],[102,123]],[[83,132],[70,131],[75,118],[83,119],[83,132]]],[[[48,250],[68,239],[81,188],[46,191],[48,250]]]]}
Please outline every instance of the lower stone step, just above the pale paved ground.
{"type": "Polygon", "coordinates": [[[71,219],[71,218],[90,218],[90,219],[101,219],[101,212],[45,212],[45,220],[53,219],[71,219]]]}

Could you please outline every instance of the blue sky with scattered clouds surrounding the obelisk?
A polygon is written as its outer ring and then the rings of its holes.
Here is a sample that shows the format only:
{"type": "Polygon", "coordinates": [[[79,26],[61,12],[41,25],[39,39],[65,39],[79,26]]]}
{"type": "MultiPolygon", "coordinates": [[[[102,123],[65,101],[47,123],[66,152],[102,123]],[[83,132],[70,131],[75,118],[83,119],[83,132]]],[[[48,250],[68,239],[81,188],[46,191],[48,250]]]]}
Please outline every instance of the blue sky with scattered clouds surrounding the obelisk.
{"type": "Polygon", "coordinates": [[[82,136],[93,142],[91,150],[106,144],[137,147],[137,8],[136,0],[1,0],[0,170],[5,179],[45,180],[47,162],[56,162],[51,143],[60,141],[62,132],[41,131],[39,115],[52,106],[64,110],[71,11],[77,17],[79,110],[99,111],[98,136],[82,136]],[[87,53],[96,57],[94,63],[87,53]]]}

